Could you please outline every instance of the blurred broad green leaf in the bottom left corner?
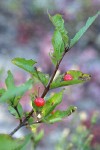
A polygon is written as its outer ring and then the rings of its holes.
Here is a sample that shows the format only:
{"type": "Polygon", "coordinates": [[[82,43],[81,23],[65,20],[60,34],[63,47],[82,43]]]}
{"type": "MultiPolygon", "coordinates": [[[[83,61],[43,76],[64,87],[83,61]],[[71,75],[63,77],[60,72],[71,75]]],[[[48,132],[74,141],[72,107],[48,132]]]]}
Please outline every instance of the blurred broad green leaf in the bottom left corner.
{"type": "Polygon", "coordinates": [[[1,150],[21,150],[30,140],[31,135],[22,139],[13,139],[7,134],[0,134],[0,149],[1,150]]]}

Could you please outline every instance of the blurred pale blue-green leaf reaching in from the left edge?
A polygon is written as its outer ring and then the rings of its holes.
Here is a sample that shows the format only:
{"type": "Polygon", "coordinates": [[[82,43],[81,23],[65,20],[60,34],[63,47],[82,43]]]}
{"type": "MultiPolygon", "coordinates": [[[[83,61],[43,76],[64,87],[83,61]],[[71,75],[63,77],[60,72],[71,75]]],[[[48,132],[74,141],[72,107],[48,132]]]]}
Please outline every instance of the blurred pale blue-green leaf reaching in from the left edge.
{"type": "Polygon", "coordinates": [[[0,102],[7,102],[9,99],[24,94],[27,90],[32,87],[33,80],[28,80],[25,84],[8,89],[0,98],[0,102]]]}

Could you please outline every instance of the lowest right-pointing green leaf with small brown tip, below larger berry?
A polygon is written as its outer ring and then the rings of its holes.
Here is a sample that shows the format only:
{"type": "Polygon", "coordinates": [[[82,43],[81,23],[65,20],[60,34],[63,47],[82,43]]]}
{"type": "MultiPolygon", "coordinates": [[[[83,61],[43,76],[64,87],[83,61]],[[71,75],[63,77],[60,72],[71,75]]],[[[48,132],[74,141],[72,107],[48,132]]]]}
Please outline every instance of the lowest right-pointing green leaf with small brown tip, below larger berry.
{"type": "Polygon", "coordinates": [[[67,110],[65,111],[60,111],[57,110],[54,114],[50,115],[46,121],[47,123],[54,123],[54,122],[59,122],[61,121],[63,118],[70,116],[72,113],[74,113],[76,111],[77,107],[75,106],[70,106],[69,108],[67,108],[67,110]]]}

